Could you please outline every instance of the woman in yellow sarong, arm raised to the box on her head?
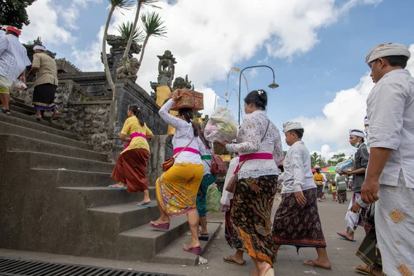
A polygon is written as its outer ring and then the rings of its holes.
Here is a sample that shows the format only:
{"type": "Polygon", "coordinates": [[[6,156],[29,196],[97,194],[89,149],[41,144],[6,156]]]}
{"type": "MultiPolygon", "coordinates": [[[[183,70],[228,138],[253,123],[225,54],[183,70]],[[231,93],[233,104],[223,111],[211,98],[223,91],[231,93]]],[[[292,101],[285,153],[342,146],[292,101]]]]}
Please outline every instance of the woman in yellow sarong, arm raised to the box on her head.
{"type": "Polygon", "coordinates": [[[172,99],[168,100],[159,110],[159,115],[167,124],[175,128],[172,138],[175,161],[174,165],[164,172],[157,183],[157,201],[159,219],[151,221],[152,228],[168,230],[170,217],[187,215],[191,230],[191,241],[183,250],[201,255],[199,242],[199,214],[196,208],[197,192],[203,179],[204,167],[199,155],[198,124],[193,121],[193,110],[181,108],[176,117],[168,111],[181,96],[174,92],[172,99]]]}

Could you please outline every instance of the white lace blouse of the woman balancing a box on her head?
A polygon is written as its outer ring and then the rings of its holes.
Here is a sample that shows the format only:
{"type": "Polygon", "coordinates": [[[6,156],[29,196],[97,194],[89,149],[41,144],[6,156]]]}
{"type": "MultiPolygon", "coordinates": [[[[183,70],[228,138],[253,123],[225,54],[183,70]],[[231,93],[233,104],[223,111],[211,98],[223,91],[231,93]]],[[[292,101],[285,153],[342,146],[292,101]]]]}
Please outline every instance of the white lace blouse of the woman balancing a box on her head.
{"type": "MultiPolygon", "coordinates": [[[[194,130],[191,123],[187,123],[183,119],[174,117],[168,113],[171,106],[175,103],[173,99],[169,99],[164,106],[159,109],[159,116],[166,121],[167,124],[175,128],[175,135],[172,138],[172,147],[173,148],[184,148],[190,143],[191,139],[194,137],[194,130]]],[[[197,137],[191,142],[188,148],[194,148],[199,150],[199,144],[197,142],[197,137]]],[[[199,154],[183,151],[176,158],[174,164],[179,163],[191,163],[191,164],[202,164],[201,157],[199,154]]]]}

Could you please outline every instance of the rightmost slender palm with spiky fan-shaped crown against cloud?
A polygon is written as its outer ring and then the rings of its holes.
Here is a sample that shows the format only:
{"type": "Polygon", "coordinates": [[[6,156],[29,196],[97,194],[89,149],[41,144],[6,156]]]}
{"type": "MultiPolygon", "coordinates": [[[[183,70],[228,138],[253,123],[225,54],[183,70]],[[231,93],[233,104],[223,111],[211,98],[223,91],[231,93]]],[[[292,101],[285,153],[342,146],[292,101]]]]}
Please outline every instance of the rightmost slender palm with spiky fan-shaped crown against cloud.
{"type": "MultiPolygon", "coordinates": [[[[142,15],[142,25],[146,32],[144,44],[141,49],[141,57],[139,57],[139,64],[142,64],[144,59],[145,48],[150,37],[166,37],[167,27],[164,26],[164,21],[161,21],[161,16],[157,12],[146,12],[142,15]]],[[[139,67],[141,68],[141,67],[139,67]]]]}

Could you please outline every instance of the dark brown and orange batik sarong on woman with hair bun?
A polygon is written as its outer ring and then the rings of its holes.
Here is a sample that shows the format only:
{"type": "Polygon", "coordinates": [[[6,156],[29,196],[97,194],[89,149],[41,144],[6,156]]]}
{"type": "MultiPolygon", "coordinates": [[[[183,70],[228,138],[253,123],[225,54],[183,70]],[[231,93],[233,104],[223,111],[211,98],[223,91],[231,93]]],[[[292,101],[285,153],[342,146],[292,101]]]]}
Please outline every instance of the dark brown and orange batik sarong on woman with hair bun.
{"type": "Polygon", "coordinates": [[[270,215],[276,185],[277,175],[239,179],[230,217],[233,246],[272,267],[275,244],[270,215]]]}

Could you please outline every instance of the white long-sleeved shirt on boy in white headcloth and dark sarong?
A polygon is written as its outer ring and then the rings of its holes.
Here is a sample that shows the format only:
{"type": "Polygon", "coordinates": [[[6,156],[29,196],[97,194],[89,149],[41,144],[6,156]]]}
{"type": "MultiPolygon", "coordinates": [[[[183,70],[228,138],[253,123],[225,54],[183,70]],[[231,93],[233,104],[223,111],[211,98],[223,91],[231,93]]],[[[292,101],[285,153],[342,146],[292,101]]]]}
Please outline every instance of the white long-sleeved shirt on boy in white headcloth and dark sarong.
{"type": "Polygon", "coordinates": [[[282,194],[316,188],[311,168],[311,155],[303,141],[290,146],[284,161],[284,172],[279,177],[283,181],[282,194]]]}

